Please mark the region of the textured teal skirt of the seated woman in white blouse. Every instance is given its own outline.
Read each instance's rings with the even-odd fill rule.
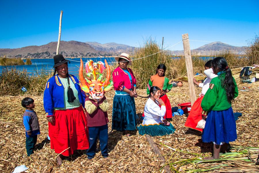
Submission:
[[[164,136],[169,135],[175,132],[174,126],[170,123],[170,125],[166,126],[163,123],[159,124],[150,124],[150,125],[140,125],[138,127],[138,133],[140,135],[150,135],[150,136]]]

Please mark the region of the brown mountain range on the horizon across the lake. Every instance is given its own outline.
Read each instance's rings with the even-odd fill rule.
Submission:
[[[221,42],[213,42],[191,50],[192,54],[197,55],[215,55],[221,51],[230,50],[243,54],[246,46],[231,46]],[[19,58],[52,58],[56,54],[57,42],[50,42],[42,46],[26,46],[16,49],[0,49],[0,56],[19,57]],[[122,52],[134,53],[137,49],[132,46],[117,43],[100,44],[98,42],[77,42],[77,41],[60,41],[59,53],[64,57],[114,57]],[[170,54],[181,55],[183,50],[168,51]]]

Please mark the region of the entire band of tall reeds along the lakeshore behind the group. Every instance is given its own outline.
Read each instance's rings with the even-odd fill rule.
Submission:
[[[166,65],[167,69],[165,75],[171,81],[175,79],[186,80],[187,72],[184,56],[171,58],[171,55],[166,54],[166,51],[157,53],[160,50],[160,46],[152,38],[146,41],[144,45],[140,46],[139,49],[135,50],[134,59],[137,60],[133,61],[130,68],[136,76],[138,89],[146,89],[146,84],[148,83],[150,76],[155,74],[157,65],[161,63]],[[257,50],[258,52],[256,52]],[[231,69],[259,64],[259,38],[257,35],[254,40],[251,40],[247,52],[247,57],[240,57],[238,54],[233,54],[231,51],[226,50],[215,56],[206,56],[208,59],[203,59],[200,55],[193,54],[193,71],[194,73],[203,73],[205,62],[218,56],[224,57]],[[145,58],[138,59],[141,57]],[[30,59],[27,59],[26,63],[24,63],[22,59],[9,59],[3,57],[0,58],[0,64],[4,65],[11,63],[9,62],[11,60],[13,60],[12,65],[31,63]],[[110,67],[111,71],[113,71],[117,67],[117,63],[114,63]],[[105,73],[106,72],[104,72],[104,76]],[[33,76],[26,70],[19,71],[15,67],[3,69],[0,74],[0,95],[20,95],[22,94],[21,88],[23,86],[28,90],[28,94],[41,95],[45,89],[47,80],[52,75],[53,72],[46,72],[44,69],[37,71],[36,75]]]

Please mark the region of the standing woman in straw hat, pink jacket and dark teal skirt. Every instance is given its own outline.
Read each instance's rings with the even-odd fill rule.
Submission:
[[[127,65],[132,62],[129,55],[122,53],[115,57],[119,63],[113,71],[113,85],[115,96],[113,98],[113,121],[112,129],[123,131],[124,135],[130,136],[129,131],[136,129],[136,106],[134,97],[136,93],[136,78]]]

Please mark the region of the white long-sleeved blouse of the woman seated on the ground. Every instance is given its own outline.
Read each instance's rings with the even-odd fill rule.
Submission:
[[[145,116],[142,125],[163,123],[162,120],[164,120],[165,111],[166,108],[164,105],[160,108],[151,98],[148,98],[144,108]]]

